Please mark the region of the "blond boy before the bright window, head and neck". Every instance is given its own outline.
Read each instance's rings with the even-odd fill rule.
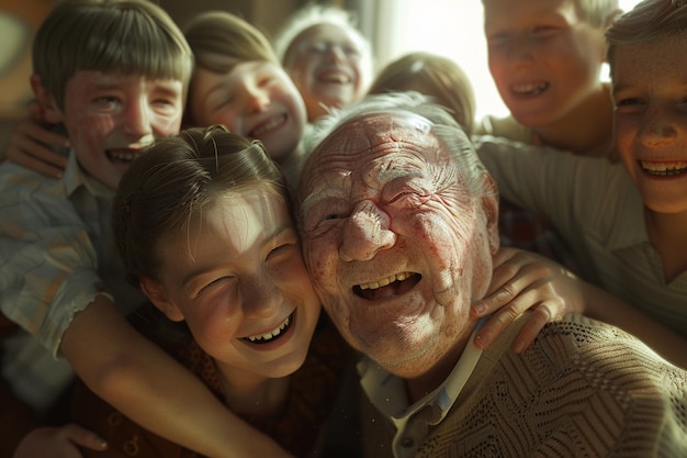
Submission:
[[[604,32],[617,0],[483,0],[488,66],[510,116],[484,133],[576,154],[613,152]]]

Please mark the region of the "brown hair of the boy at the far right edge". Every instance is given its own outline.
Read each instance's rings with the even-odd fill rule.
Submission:
[[[649,43],[682,34],[687,40],[687,1],[644,0],[622,14],[606,31],[607,62],[613,70],[613,57],[618,46]],[[675,56],[684,58],[684,56]]]

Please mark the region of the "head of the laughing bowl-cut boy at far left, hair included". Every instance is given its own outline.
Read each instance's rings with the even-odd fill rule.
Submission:
[[[32,86],[81,167],[110,188],[143,146],[179,132],[191,51],[147,0],[65,0],[38,29]]]

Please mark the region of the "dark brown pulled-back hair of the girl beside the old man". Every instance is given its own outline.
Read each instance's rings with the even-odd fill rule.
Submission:
[[[289,203],[283,175],[258,141],[223,126],[159,139],[124,174],[114,199],[116,245],[132,282],[157,279],[160,243],[226,192],[257,186]]]

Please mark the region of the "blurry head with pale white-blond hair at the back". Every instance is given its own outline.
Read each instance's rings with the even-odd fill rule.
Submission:
[[[372,52],[350,12],[311,3],[284,24],[277,55],[307,108],[308,120],[360,99],[372,75]]]

